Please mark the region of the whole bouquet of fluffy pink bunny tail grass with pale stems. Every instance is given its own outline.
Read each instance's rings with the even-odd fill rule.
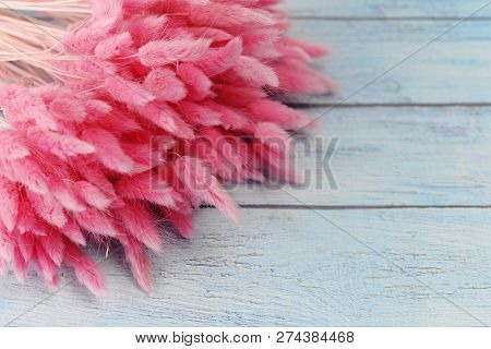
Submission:
[[[333,83],[276,2],[2,1],[0,272],[56,288],[65,265],[101,294],[84,248],[119,243],[149,291],[156,218],[190,238],[202,204],[237,219],[224,182],[295,181],[287,131],[309,120],[271,97]]]

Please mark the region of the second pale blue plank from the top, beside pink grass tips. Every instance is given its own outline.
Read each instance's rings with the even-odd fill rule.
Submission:
[[[340,91],[334,96],[289,100],[345,105],[490,104],[490,22],[455,23],[295,21],[292,36],[334,50],[333,56],[315,61],[314,67],[337,81]]]

